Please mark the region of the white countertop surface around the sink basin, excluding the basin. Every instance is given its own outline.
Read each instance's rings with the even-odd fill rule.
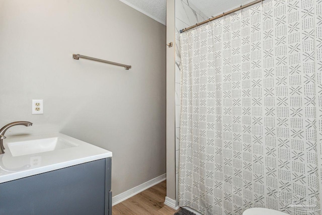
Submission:
[[[8,145],[19,141],[58,137],[74,147],[54,151],[13,156]],[[0,183],[37,175],[65,167],[112,157],[112,152],[62,133],[10,136],[4,139],[5,154],[0,155]]]

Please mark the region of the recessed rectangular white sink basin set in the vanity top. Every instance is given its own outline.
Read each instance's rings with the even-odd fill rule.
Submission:
[[[13,157],[67,149],[77,146],[77,144],[74,144],[62,137],[17,141],[10,142],[8,144],[8,148]]]

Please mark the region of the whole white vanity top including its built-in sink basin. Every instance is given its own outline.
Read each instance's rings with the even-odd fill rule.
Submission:
[[[0,183],[112,157],[110,151],[62,133],[8,136],[4,146]]]

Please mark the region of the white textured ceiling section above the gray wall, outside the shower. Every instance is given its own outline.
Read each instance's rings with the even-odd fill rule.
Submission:
[[[166,0],[120,0],[146,16],[166,25]]]

